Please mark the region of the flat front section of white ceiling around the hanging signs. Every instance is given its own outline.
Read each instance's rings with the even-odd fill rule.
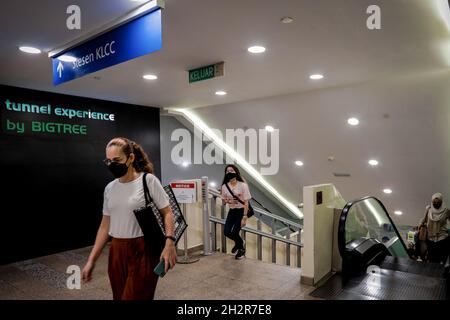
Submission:
[[[444,0],[442,0],[444,1]],[[0,82],[158,107],[198,107],[348,85],[448,66],[448,29],[440,0],[167,0],[163,49],[54,87],[50,59],[17,47],[50,51],[122,16],[130,0],[15,0],[2,3]],[[366,8],[381,7],[382,29],[366,28]],[[67,30],[66,8],[78,4],[82,30]],[[292,24],[280,23],[292,16]],[[8,32],[9,31],[9,32]],[[246,49],[262,44],[252,56]],[[225,61],[225,76],[188,84],[186,70]],[[323,72],[326,81],[308,74]],[[156,73],[159,80],[142,79]],[[101,77],[95,80],[94,76]],[[214,92],[224,89],[226,97]]]

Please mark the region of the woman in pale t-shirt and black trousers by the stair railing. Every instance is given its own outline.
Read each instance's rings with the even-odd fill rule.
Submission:
[[[235,197],[239,198],[243,203],[239,202],[227,188],[231,189]],[[228,211],[227,220],[225,222],[224,233],[225,236],[234,240],[234,247],[231,253],[236,253],[236,259],[245,257],[245,245],[239,232],[247,223],[248,201],[252,198],[248,185],[242,178],[239,169],[235,165],[228,165],[225,167],[225,177],[223,178],[222,200],[228,204],[230,210]]]

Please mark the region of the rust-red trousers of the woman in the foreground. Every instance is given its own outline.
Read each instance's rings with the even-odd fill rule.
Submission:
[[[158,275],[153,269],[159,255],[152,254],[144,237],[113,238],[109,249],[108,275],[114,300],[152,300]]]

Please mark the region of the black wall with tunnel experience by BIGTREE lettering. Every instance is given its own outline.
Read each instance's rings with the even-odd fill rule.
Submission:
[[[5,101],[114,113],[115,121],[8,111]],[[106,143],[140,143],[160,177],[159,109],[0,85],[0,264],[92,245],[113,179]],[[54,111],[54,110],[53,110]],[[24,133],[7,126],[22,122]],[[31,132],[31,122],[86,125],[86,135]]]

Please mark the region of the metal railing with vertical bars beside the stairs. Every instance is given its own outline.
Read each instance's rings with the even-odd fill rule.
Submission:
[[[222,203],[220,206],[220,216],[217,216],[217,198],[220,198],[220,193],[216,190],[209,189],[208,194],[211,195],[211,205],[210,210],[208,212],[209,221],[212,223],[213,227],[211,229],[211,241],[212,241],[212,251],[217,251],[217,226],[220,225],[221,232],[221,251],[227,252],[227,241],[224,236],[224,228],[225,228],[225,205]],[[249,232],[251,234],[256,235],[256,245],[257,245],[257,259],[262,260],[262,252],[263,252],[263,238],[267,238],[272,240],[271,253],[272,253],[272,262],[276,263],[277,260],[277,241],[282,242],[286,245],[285,257],[286,257],[286,265],[291,265],[291,246],[294,246],[297,250],[297,267],[301,266],[301,248],[303,247],[301,243],[301,230],[302,226],[294,221],[289,219],[279,217],[274,215],[266,210],[263,210],[258,207],[253,207],[255,211],[255,217],[257,220],[257,228],[244,227],[242,228],[242,238],[245,240],[246,233]],[[262,217],[265,217],[266,220],[270,220],[271,223],[268,225],[271,228],[272,233],[268,233],[262,230]],[[290,237],[292,234],[287,233],[285,237],[276,234],[276,223],[280,222],[283,224],[286,230],[295,230],[296,240],[291,240]],[[210,246],[208,245],[208,248]]]

